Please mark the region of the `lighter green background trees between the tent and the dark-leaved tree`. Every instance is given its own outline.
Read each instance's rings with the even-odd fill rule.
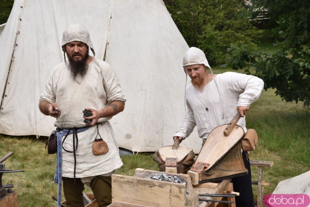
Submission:
[[[223,64],[231,45],[255,47],[257,30],[240,0],[164,0],[189,47],[201,48],[210,64]]]

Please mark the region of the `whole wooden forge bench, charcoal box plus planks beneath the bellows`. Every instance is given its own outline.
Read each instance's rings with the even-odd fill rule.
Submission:
[[[186,185],[150,179],[152,175],[165,172],[137,169],[134,176],[112,175],[112,204],[109,207],[216,207],[218,203],[198,202],[199,193],[231,193],[230,180],[193,186],[190,176],[176,175]],[[167,173],[166,173],[167,174]],[[217,197],[203,199],[220,200]],[[234,201],[234,198],[230,198]],[[228,207],[235,207],[234,204]]]

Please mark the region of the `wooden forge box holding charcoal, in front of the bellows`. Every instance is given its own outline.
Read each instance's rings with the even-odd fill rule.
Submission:
[[[155,174],[176,175],[186,185],[150,179]],[[128,207],[196,207],[198,192],[193,189],[189,175],[137,169],[134,176],[112,175],[111,205],[117,202],[127,203]]]

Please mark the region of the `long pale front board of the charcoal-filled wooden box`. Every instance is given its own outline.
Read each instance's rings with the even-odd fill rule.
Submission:
[[[190,179],[189,176],[188,179]],[[185,184],[112,175],[112,202],[156,207],[195,207],[198,203],[198,193],[197,201],[190,201],[186,200]]]

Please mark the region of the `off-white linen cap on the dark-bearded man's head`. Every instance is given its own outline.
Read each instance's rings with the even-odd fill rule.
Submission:
[[[95,55],[90,34],[87,31],[86,27],[84,27],[83,25],[71,24],[71,25],[68,25],[67,28],[63,31],[62,33],[63,52],[66,51],[64,46],[67,43],[70,43],[73,41],[79,41],[79,42],[85,43],[87,46],[91,48],[93,55]]]

